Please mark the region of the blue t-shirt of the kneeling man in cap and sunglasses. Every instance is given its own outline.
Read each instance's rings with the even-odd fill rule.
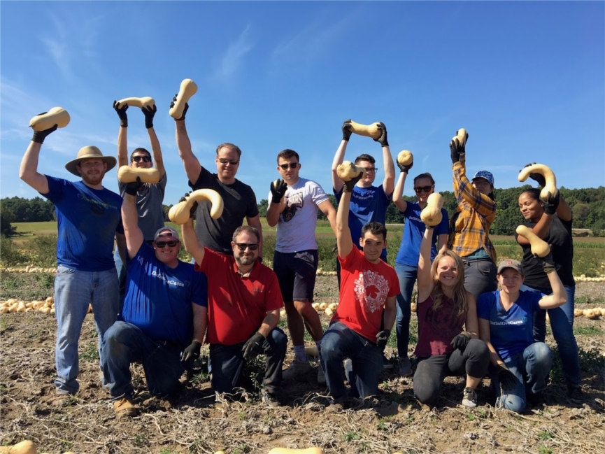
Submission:
[[[170,268],[143,243],[126,265],[126,296],[121,320],[140,328],[152,339],[188,346],[193,332],[191,304],[208,307],[206,274],[179,260]]]

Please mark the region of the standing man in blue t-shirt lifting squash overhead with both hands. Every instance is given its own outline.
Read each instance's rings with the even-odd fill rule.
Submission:
[[[340,201],[343,195],[343,180],[341,180],[336,173],[336,168],[343,163],[345,152],[349,139],[351,136],[350,123],[351,120],[345,120],[342,126],[343,140],[336,150],[334,155],[334,161],[332,161],[332,186],[334,188],[334,195],[336,200]],[[391,156],[391,150],[387,141],[387,127],[383,123],[380,123],[380,130],[382,135],[374,141],[380,143],[380,147],[383,150],[383,160],[385,166],[385,179],[383,184],[376,187],[373,185],[376,180],[376,159],[370,155],[359,155],[355,158],[355,165],[363,167],[365,169],[365,176],[357,182],[357,185],[353,188],[353,194],[351,194],[351,204],[349,211],[349,229],[351,231],[351,239],[353,244],[357,246],[357,249],[362,250],[360,239],[362,238],[362,227],[368,222],[380,222],[385,224],[387,215],[387,207],[390,204],[391,197],[395,185],[395,166],[393,164],[393,157]],[[383,249],[380,259],[387,261],[387,250]],[[341,285],[341,267],[338,260],[336,260],[336,273],[339,280],[339,287]]]

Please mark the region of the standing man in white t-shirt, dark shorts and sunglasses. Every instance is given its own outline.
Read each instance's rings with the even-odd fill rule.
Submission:
[[[277,156],[278,172],[282,180],[271,183],[269,209],[266,220],[269,227],[277,225],[273,271],[284,299],[287,326],[294,345],[294,362],[283,372],[290,380],[311,369],[304,353],[304,329],[321,349],[322,325],[317,311],[311,306],[315,275],[318,269],[318,244],[315,241],[318,209],[328,218],[332,230],[336,227],[336,210],[327,194],[315,181],[299,177],[299,155],[294,150],[283,150]],[[285,204],[280,201],[285,198]],[[321,367],[318,381],[325,383]]]

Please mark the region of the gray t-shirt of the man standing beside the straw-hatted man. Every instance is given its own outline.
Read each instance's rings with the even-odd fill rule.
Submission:
[[[118,180],[118,191],[124,197],[126,183]],[[153,241],[157,229],[164,227],[164,191],[166,190],[166,172],[157,183],[143,183],[136,192],[136,212],[138,213],[138,228],[143,232],[145,241]]]

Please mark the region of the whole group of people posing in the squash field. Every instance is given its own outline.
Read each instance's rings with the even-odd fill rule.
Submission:
[[[20,178],[55,204],[57,211],[57,276],[55,348],[57,399],[78,391],[78,338],[92,305],[99,333],[103,383],[118,416],[134,416],[130,365],[141,362],[148,389],[171,395],[183,373],[208,343],[211,386],[230,394],[240,383],[245,362],[266,355],[262,400],[278,404],[283,380],[306,376],[313,367],[304,346],[305,329],[320,354],[318,383],[327,385],[335,404],[378,392],[384,348],[395,327],[397,371],[411,376],[408,357],[413,287],[418,285],[418,364],[414,394],[433,406],[443,379],[466,375],[464,406],[476,406],[475,390],[484,376],[499,406],[523,411],[546,388],[553,361],[544,343],[545,310],[564,362],[569,395],[581,398],[578,347],[572,331],[574,278],[571,274],[571,210],[560,194],[541,199],[539,190],[519,197],[526,225],[552,246],[546,257],[532,255],[518,237],[522,263],[496,265],[489,239],[494,221],[494,178],[479,171],[469,180],[464,140],[453,139],[450,155],[458,206],[451,220],[427,226],[420,219],[435,190],[430,173],[413,179],[417,202],[403,198],[412,164],[395,166],[387,129],[379,124],[385,167],[383,183],[374,185],[376,159],[355,159],[364,172],[344,181],[337,168],[351,138],[350,120],[332,163],[332,184],[338,210],[318,183],[299,176],[299,154],[277,155],[281,178],[270,185],[266,221],[277,227],[273,269],[262,262],[262,225],[255,193],[236,178],[241,150],[218,146],[216,173],[192,152],[183,115],[176,119],[176,143],[192,190],[220,194],[224,210],[210,215],[211,204],[194,204],[181,232],[164,225],[162,201],[166,171],[153,129],[155,106],[143,107],[152,152],[136,148],[128,159],[128,106],[114,103],[120,119],[118,159],[86,146],[66,164],[81,178],[72,182],[38,172],[38,154],[45,138],[57,129],[34,132],[22,159]],[[159,172],[158,183],[119,183],[120,194],[103,186],[106,172],[120,166]],[[540,185],[541,175],[532,174]],[[405,219],[395,267],[386,261],[385,215],[390,201]],[[327,216],[338,249],[339,306],[329,327],[322,329],[313,306],[318,245],[318,211]],[[194,225],[193,219],[196,222]],[[243,221],[246,221],[245,225]],[[115,243],[114,243],[115,239]],[[182,241],[182,243],[181,243]],[[115,244],[115,252],[114,252]],[[183,244],[193,263],[178,259]],[[500,290],[497,290],[499,288]],[[287,336],[278,327],[285,307],[294,360],[283,369]],[[343,379],[343,363],[348,363]]]

